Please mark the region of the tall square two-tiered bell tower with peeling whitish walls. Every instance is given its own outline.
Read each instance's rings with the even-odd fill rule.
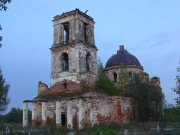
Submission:
[[[52,91],[80,90],[81,81],[91,85],[97,76],[94,20],[75,9],[54,17],[51,47]]]

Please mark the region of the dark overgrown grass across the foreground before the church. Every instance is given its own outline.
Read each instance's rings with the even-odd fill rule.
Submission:
[[[74,132],[75,135],[122,135],[125,129],[128,129],[130,133],[133,133],[134,131],[140,132],[140,133],[149,132],[151,128],[156,128],[157,124],[158,122],[131,123],[131,124],[110,123],[106,125],[95,125],[93,127],[85,127],[81,130],[78,130],[78,128],[76,127],[75,129],[71,130],[66,127],[56,128],[56,124],[53,123],[51,125],[48,125],[48,127],[37,128],[37,130],[35,130],[36,132],[32,132],[32,134],[33,135],[37,135],[37,134],[68,135],[67,133]],[[49,127],[50,127],[50,133],[47,132],[49,131]],[[179,124],[177,125],[177,123],[171,123],[171,125],[169,125],[169,123],[168,125],[165,125],[164,123],[159,123],[159,127],[160,128],[171,127],[171,128],[177,128],[177,130],[176,131],[174,130],[173,132],[168,132],[168,133],[162,130],[160,133],[157,133],[155,129],[155,131],[152,132],[153,133],[152,135],[178,135],[179,130],[180,130]],[[46,128],[47,128],[47,131],[46,131]],[[17,127],[10,128],[10,130],[11,129],[17,129]],[[19,129],[22,129],[22,131],[24,130],[22,127]]]

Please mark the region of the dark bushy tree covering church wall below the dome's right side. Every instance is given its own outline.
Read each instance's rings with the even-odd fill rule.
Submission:
[[[134,74],[128,84],[125,96],[135,99],[138,106],[139,121],[159,120],[162,118],[163,94],[160,87],[143,82],[139,74]]]

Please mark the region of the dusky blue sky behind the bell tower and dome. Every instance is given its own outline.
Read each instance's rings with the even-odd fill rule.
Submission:
[[[174,103],[171,88],[180,61],[179,0],[13,0],[7,12],[0,12],[0,66],[11,85],[8,111],[36,97],[39,81],[50,85],[52,20],[75,8],[88,10],[94,18],[95,43],[104,65],[123,44],[150,77],[160,77],[166,100]]]

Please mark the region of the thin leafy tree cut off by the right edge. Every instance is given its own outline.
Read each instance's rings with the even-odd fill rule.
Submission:
[[[178,72],[178,75],[176,76],[176,87],[173,88],[173,90],[178,95],[178,97],[175,100],[176,100],[177,106],[180,107],[180,66],[177,68],[177,72]]]

